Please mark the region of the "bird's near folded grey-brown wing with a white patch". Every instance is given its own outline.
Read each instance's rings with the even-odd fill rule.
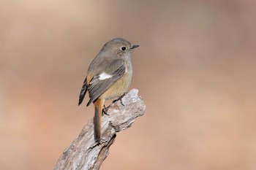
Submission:
[[[125,73],[124,60],[122,59],[105,63],[104,68],[105,69],[101,69],[101,72],[95,74],[89,83],[87,82],[87,90],[90,96],[90,101],[87,106],[108,90],[108,88]]]

